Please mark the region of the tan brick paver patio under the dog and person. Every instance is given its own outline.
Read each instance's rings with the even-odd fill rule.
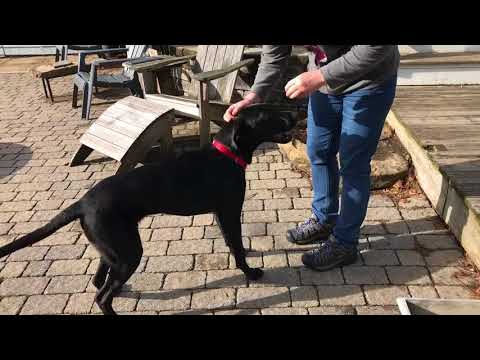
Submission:
[[[71,78],[53,80],[55,104],[30,74],[0,74],[0,245],[44,224],[117,164],[94,153],[70,168],[89,126],[71,108]],[[92,117],[116,98],[94,97]],[[100,98],[101,97],[101,98]],[[103,104],[102,104],[103,103]],[[179,125],[177,134],[192,131]],[[399,296],[468,298],[458,278],[463,251],[422,197],[399,206],[374,195],[362,229],[361,257],[317,273],[285,230],[309,216],[311,186],[274,146],[257,151],[247,171],[242,215],[248,262],[265,277],[247,282],[235,269],[211,215],[158,215],[140,223],[144,259],[114,301],[136,314],[396,314]],[[0,259],[1,314],[98,314],[92,275],[97,252],[78,222]]]

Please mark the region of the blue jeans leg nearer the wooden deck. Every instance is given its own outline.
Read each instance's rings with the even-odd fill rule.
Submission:
[[[343,188],[335,237],[358,244],[370,198],[370,161],[395,97],[396,76],[374,89],[344,95],[340,135],[340,175]]]

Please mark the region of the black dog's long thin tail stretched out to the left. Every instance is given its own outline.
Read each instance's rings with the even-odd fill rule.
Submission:
[[[47,236],[52,235],[61,227],[64,227],[73,220],[78,219],[81,215],[82,211],[80,202],[70,205],[60,214],[50,220],[48,224],[38,228],[30,234],[24,235],[21,238],[12,241],[10,244],[0,247],[0,258],[45,239]]]

